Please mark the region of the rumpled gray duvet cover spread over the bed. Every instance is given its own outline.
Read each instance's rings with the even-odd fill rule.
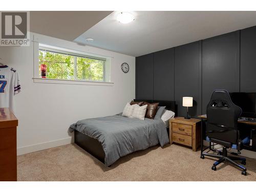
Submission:
[[[169,142],[161,119],[140,120],[118,114],[79,120],[70,129],[93,137],[102,144],[106,166],[127,154]]]

